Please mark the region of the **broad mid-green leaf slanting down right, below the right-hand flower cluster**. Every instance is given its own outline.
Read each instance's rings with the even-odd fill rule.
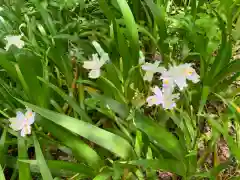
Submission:
[[[183,149],[177,138],[164,127],[156,124],[153,120],[139,112],[136,113],[135,123],[137,128],[145,132],[152,142],[171,153],[177,159],[184,159],[186,151]]]

